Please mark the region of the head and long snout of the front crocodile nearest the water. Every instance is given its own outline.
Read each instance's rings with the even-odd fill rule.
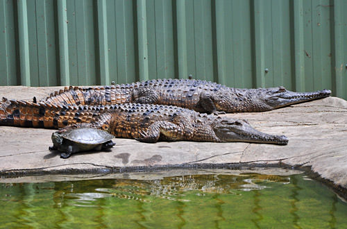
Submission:
[[[214,126],[214,133],[221,142],[255,142],[263,144],[288,144],[284,135],[269,135],[251,127],[246,121],[224,119]]]

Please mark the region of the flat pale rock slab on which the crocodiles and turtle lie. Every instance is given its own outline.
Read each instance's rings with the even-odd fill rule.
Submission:
[[[44,98],[62,87],[0,87],[8,99]],[[51,152],[56,130],[0,127],[0,173],[135,171],[151,167],[214,167],[223,164],[311,167],[322,178],[347,188],[347,101],[329,97],[270,112],[226,114],[247,119],[264,133],[286,135],[287,146],[242,142],[158,142],[115,139],[108,152],[78,153],[60,159]]]

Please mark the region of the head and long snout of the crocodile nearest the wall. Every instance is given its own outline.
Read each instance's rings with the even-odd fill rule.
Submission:
[[[321,90],[316,92],[291,92],[286,90],[285,87],[275,87],[266,89],[263,103],[272,109],[276,109],[295,103],[322,99],[330,96],[330,94],[330,90]]]

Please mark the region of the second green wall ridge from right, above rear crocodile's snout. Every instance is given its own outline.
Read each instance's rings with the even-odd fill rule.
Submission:
[[[294,90],[305,90],[305,60],[304,60],[304,34],[303,34],[303,0],[291,1],[291,34],[292,53],[291,61],[294,74]]]

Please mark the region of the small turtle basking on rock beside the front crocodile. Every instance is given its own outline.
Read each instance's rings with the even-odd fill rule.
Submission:
[[[60,158],[69,158],[72,153],[81,151],[101,151],[115,146],[112,142],[115,136],[97,128],[75,128],[60,133],[52,133],[53,146],[49,146],[50,151],[58,150],[62,152]]]

